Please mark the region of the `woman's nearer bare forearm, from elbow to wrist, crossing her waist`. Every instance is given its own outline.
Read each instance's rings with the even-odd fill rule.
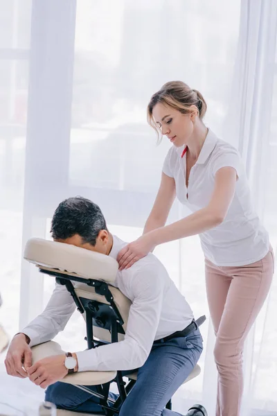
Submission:
[[[154,245],[159,245],[168,241],[201,234],[208,229],[220,225],[222,221],[223,218],[219,218],[213,214],[210,209],[203,208],[186,218],[167,225],[166,227],[162,226],[157,229],[152,229],[148,234],[149,236],[151,234]]]

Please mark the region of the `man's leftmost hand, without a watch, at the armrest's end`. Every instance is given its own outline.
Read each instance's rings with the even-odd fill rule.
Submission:
[[[12,338],[5,365],[6,372],[10,376],[19,377],[20,379],[28,377],[27,372],[32,365],[32,352],[26,342],[24,333],[18,333]]]

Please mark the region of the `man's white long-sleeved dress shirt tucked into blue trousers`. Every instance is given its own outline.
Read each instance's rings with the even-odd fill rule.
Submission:
[[[113,239],[109,256],[116,259],[127,243],[116,236]],[[131,268],[118,271],[114,286],[132,301],[125,339],[77,352],[79,371],[141,367],[150,354],[154,340],[181,331],[193,320],[193,312],[185,297],[152,253]],[[30,338],[30,346],[54,338],[64,329],[75,307],[65,286],[57,284],[44,312],[21,331]]]

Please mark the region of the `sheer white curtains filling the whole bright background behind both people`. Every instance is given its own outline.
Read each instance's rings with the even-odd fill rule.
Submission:
[[[156,146],[145,109],[168,80],[199,89],[208,103],[206,124],[240,148],[276,246],[275,6],[274,0],[0,0],[0,88],[8,98],[0,101],[0,322],[10,336],[51,295],[53,281],[21,263],[21,248],[30,236],[49,238],[63,198],[79,194],[97,202],[111,232],[126,241],[141,234],[169,148],[166,139]],[[169,221],[187,214],[176,203]],[[208,316],[198,237],[155,253],[195,315]],[[274,296],[247,346],[245,409],[261,415],[277,406],[277,371],[268,365]],[[201,402],[213,415],[209,320],[202,333],[202,374],[179,389],[174,406],[186,413]],[[78,349],[85,347],[83,334],[75,314],[57,339]],[[267,375],[271,390],[264,387]]]

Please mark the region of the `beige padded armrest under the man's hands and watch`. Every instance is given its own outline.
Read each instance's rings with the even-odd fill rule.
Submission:
[[[61,346],[54,341],[36,345],[32,348],[33,364],[42,360],[42,358],[60,354],[65,354],[65,352],[62,350]],[[73,385],[99,385],[114,380],[116,374],[116,371],[84,371],[68,374],[61,381],[62,383]]]

